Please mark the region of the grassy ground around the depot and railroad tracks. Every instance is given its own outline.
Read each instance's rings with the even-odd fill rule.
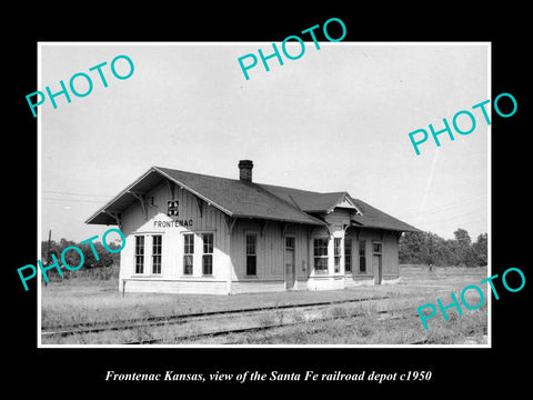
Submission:
[[[477,310],[463,308],[463,316],[449,310],[450,321],[441,313],[428,320],[424,330],[416,308],[435,303],[440,298],[450,304],[451,292],[457,298],[467,284],[477,284],[485,293],[486,268],[402,266],[400,282],[369,286],[339,291],[298,291],[279,293],[253,293],[237,296],[125,293],[118,291],[117,279],[71,279],[51,282],[41,290],[42,330],[68,328],[77,323],[101,324],[151,317],[171,317],[220,310],[239,310],[251,307],[276,307],[308,302],[352,300],[388,297],[371,302],[332,304],[322,311],[328,320],[310,320],[305,323],[249,333],[232,333],[223,337],[188,339],[188,332],[198,332],[199,326],[163,326],[124,332],[105,332],[64,338],[42,339],[42,343],[105,343],[117,344],[142,338],[162,337],[168,344],[405,344],[414,342],[435,344],[483,344],[487,326],[486,300]],[[471,304],[479,302],[475,291],[466,292]],[[261,313],[255,323],[269,326],[292,320],[305,320],[300,311],[292,314],[278,310]],[[352,317],[354,313],[358,317]],[[235,320],[235,323],[250,323]],[[220,322],[213,320],[212,324]],[[205,322],[203,323],[205,324]],[[203,328],[202,328],[203,329]],[[177,339],[178,338],[178,339]]]

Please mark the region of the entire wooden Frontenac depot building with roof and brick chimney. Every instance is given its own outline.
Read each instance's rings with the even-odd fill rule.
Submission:
[[[124,233],[119,289],[242,293],[344,289],[399,278],[402,232],[418,231],[348,192],[150,168],[86,222]]]

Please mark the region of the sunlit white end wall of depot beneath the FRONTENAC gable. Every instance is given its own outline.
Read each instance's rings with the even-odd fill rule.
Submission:
[[[152,198],[153,197],[153,206]],[[211,292],[209,286],[199,284],[198,282],[215,283],[214,292],[220,291],[220,287],[228,282],[228,271],[231,260],[228,256],[230,248],[230,234],[224,219],[224,214],[214,207],[208,206],[205,202],[197,201],[197,198],[187,190],[179,189],[174,186],[174,200],[179,201],[179,216],[167,216],[167,202],[172,200],[171,191],[165,182],[155,187],[152,191],[147,193],[148,218],[140,201],[135,201],[122,216],[122,232],[125,236],[125,247],[121,251],[120,260],[120,279],[127,279],[128,283],[125,290],[134,291],[165,291],[170,288],[168,283],[162,283],[165,280],[179,280],[185,282],[197,282],[194,287],[197,292]],[[200,207],[202,210],[200,211]],[[159,221],[172,220],[192,220],[192,224],[160,227]],[[155,222],[155,223],[154,223]],[[211,232],[214,234],[213,242],[213,273],[209,277],[202,276],[202,241],[201,233]],[[194,236],[194,263],[193,274],[183,274],[183,233],[195,233]],[[152,236],[162,236],[162,261],[161,274],[151,273],[151,252],[152,252]],[[134,273],[134,248],[135,236],[144,236],[144,271],[142,274]],[[132,283],[131,280],[139,280]],[[142,283],[141,283],[142,281]],[[223,282],[223,284],[222,284]],[[122,286],[122,282],[119,282]],[[202,289],[202,287],[204,287]],[[181,289],[180,289],[181,288]],[[213,286],[214,288],[214,286]],[[142,290],[141,290],[142,289]],[[182,287],[174,286],[174,289],[184,290]],[[122,288],[120,288],[122,290]],[[170,289],[169,289],[170,290]]]

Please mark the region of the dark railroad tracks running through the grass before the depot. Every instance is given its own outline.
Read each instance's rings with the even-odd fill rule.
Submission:
[[[103,323],[81,322],[81,323],[74,323],[74,324],[62,326],[62,327],[42,328],[41,337],[42,338],[67,337],[67,336],[86,334],[86,333],[100,333],[100,332],[107,332],[107,331],[150,328],[150,327],[168,326],[168,324],[191,323],[197,321],[208,321],[211,319],[225,318],[225,317],[232,317],[232,316],[247,317],[248,314],[254,314],[254,313],[257,314],[262,312],[264,313],[269,311],[282,311],[282,310],[312,311],[312,310],[320,310],[323,308],[328,308],[331,306],[379,301],[379,300],[386,300],[386,299],[390,299],[390,297],[383,296],[383,297],[322,301],[322,302],[301,303],[301,304],[281,304],[281,306],[257,307],[257,308],[245,308],[245,309],[234,309],[234,310],[195,312],[195,313],[164,316],[164,317],[148,317],[148,318],[122,320],[122,321],[110,321],[110,322],[103,322]],[[298,322],[305,322],[305,321],[298,321]],[[279,326],[281,327],[281,326],[288,326],[288,324],[289,323],[280,323]],[[275,327],[274,326],[270,327],[265,324],[264,327],[250,327],[250,328],[241,328],[241,329],[227,330],[227,331],[220,331],[220,332],[214,331],[205,334],[197,333],[197,336],[199,337],[202,334],[214,336],[214,334],[224,334],[224,333],[229,334],[231,332],[239,333],[239,331],[245,332],[247,330],[253,331],[254,329],[260,330],[260,329],[270,329],[270,328],[275,328]]]

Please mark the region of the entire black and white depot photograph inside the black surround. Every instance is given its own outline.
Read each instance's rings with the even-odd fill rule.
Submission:
[[[302,40],[39,43],[39,347],[491,346],[491,43]]]

